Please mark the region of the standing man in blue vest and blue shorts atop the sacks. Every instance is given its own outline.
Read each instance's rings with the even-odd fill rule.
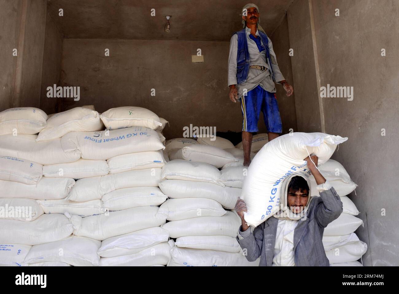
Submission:
[[[287,96],[292,95],[294,89],[280,72],[272,42],[260,25],[258,6],[249,3],[242,12],[244,28],[230,40],[228,85],[231,101],[241,99],[244,166],[249,166],[252,133],[258,131],[260,111],[269,141],[282,133],[274,82],[284,87]]]

